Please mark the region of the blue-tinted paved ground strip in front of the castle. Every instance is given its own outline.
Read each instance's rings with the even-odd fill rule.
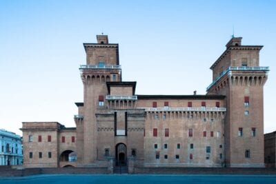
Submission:
[[[109,183],[109,184],[182,184],[182,183],[276,183],[276,175],[36,175],[0,178],[0,183]]]

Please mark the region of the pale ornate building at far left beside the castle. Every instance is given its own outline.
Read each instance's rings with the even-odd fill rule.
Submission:
[[[23,152],[21,136],[0,130],[0,165],[21,165]]]

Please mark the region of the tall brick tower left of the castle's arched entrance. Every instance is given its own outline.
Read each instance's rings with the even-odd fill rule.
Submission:
[[[107,81],[121,81],[119,65],[119,45],[108,43],[107,35],[97,35],[97,43],[83,43],[86,50],[86,65],[81,65],[83,81],[83,104],[75,116],[77,125],[78,163],[92,164],[97,160],[98,110],[105,109],[108,89]]]

